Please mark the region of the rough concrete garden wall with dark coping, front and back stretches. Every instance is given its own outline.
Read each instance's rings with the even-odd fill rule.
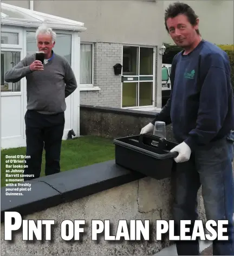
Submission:
[[[114,108],[81,106],[81,135],[124,137],[137,135],[155,113]],[[167,139],[173,141],[172,127]],[[77,140],[79,142],[79,139]],[[94,152],[95,153],[95,152]],[[167,236],[156,240],[155,221],[172,219],[174,175],[155,180],[115,164],[115,160],[68,170],[33,182],[30,193],[22,197],[4,196],[1,189],[1,221],[4,212],[17,211],[28,220],[55,220],[53,242],[22,241],[22,232],[15,242],[4,241],[1,223],[2,255],[153,255],[168,247]],[[198,194],[199,219],[205,221],[201,193]],[[81,241],[63,241],[63,220],[86,220],[86,234]],[[110,220],[111,234],[119,220],[150,220],[150,241],[104,241],[91,239],[91,221]],[[112,233],[113,232],[113,233]]]

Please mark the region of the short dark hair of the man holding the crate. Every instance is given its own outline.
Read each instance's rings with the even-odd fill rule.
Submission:
[[[165,11],[165,27],[167,32],[169,32],[168,28],[167,28],[167,24],[166,21],[168,18],[174,18],[180,14],[184,14],[185,16],[187,16],[188,21],[191,23],[191,25],[196,25],[197,24],[197,18],[198,16],[195,14],[194,10],[187,4],[185,3],[173,3],[170,4],[168,6],[168,8]],[[197,29],[197,34],[200,35],[199,30]]]

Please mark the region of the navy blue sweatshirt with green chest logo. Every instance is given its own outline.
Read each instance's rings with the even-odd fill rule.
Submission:
[[[174,138],[191,150],[227,136],[234,127],[231,69],[227,54],[202,40],[188,55],[174,56],[172,91],[157,120],[172,123]]]

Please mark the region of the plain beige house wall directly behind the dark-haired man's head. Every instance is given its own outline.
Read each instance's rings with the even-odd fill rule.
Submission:
[[[164,10],[170,3],[163,1]],[[181,1],[190,5],[199,16],[199,30],[203,39],[216,44],[234,43],[234,1],[229,0],[196,0]],[[164,29],[164,42],[174,43]]]

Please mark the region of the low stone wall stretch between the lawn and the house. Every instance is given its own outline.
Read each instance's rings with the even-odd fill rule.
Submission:
[[[80,106],[80,135],[125,137],[139,135],[155,112],[122,110],[121,108]],[[166,127],[167,139],[174,142],[172,126]]]

